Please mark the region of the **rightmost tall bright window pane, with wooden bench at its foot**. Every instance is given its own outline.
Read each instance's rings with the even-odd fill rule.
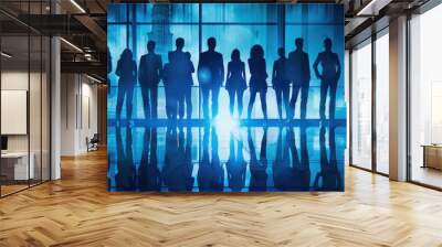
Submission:
[[[442,23],[442,4],[410,21],[411,82],[410,82],[410,151],[411,180],[442,187],[442,36],[438,32]],[[424,146],[430,150],[425,155]],[[438,169],[434,169],[438,168]]]

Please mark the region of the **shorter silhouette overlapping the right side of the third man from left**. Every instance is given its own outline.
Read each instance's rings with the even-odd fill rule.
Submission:
[[[179,90],[179,98],[178,98],[178,107],[179,107],[179,118],[182,119],[185,117],[185,103],[186,103],[186,117],[187,119],[192,118],[192,86],[193,86],[193,78],[192,73],[194,73],[194,66],[192,61],[190,60],[191,55],[190,52],[186,52],[186,60],[182,62],[182,66],[187,66],[185,71],[185,84],[182,88],[180,87]]]

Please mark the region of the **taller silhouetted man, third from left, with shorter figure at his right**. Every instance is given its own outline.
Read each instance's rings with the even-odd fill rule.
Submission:
[[[176,50],[169,52],[169,63],[170,63],[170,110],[172,119],[176,119],[180,111],[182,115],[179,117],[182,119],[183,109],[179,109],[183,107],[183,103],[181,103],[181,98],[183,97],[182,92],[186,88],[186,78],[189,69],[189,60],[186,52],[182,51],[185,47],[185,39],[178,37],[175,42]]]

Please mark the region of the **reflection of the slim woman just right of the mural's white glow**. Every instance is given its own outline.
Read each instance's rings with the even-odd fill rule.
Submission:
[[[229,187],[233,192],[240,192],[245,186],[246,162],[244,161],[244,155],[242,152],[243,150],[242,140],[238,141],[236,153],[234,144],[235,141],[233,138],[233,133],[230,133],[229,160],[225,163],[225,168],[228,171]]]

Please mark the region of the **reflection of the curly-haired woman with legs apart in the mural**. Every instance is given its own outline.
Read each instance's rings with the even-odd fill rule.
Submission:
[[[256,150],[253,144],[252,133],[248,129],[248,141],[250,150],[250,185],[249,191],[266,191],[267,190],[267,128],[263,128],[263,137],[261,140],[260,160],[256,157]]]

